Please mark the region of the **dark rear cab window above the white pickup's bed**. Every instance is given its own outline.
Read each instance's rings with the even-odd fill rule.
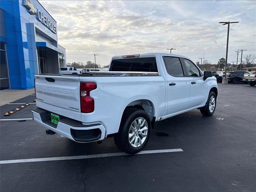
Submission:
[[[112,60],[110,71],[158,72],[155,57]]]

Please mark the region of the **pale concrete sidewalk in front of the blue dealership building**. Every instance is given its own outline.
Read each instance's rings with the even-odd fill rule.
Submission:
[[[6,90],[0,92],[0,106],[16,101],[20,98],[34,94],[34,89],[28,90]]]

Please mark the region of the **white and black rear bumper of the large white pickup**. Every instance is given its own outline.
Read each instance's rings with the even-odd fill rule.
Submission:
[[[84,125],[76,120],[61,118],[56,125],[48,119],[47,110],[34,108],[32,113],[35,122],[76,142],[94,142],[105,138],[106,129],[102,124]]]

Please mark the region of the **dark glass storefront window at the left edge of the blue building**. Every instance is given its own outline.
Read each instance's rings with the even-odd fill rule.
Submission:
[[[0,90],[10,89],[6,45],[0,42]]]

